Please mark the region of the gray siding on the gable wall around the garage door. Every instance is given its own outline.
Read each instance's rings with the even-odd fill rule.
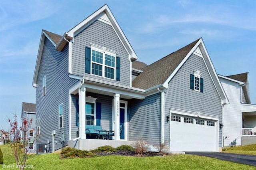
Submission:
[[[194,74],[194,70],[199,70],[202,73],[201,78],[204,79],[203,93],[190,89],[190,74]],[[174,75],[168,87],[165,94],[166,115],[170,114],[169,108],[182,109],[217,116],[222,123],[221,99],[202,57],[192,54]],[[169,138],[169,136],[170,122],[165,121],[165,138]],[[219,129],[219,147],[221,146],[222,130]]]

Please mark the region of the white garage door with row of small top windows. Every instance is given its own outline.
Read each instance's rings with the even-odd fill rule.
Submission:
[[[216,121],[172,115],[170,121],[172,151],[218,151]]]

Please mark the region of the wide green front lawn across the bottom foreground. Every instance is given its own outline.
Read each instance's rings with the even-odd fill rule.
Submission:
[[[5,165],[15,165],[15,160],[8,155],[6,145],[0,146],[4,155]],[[204,156],[174,154],[170,156],[136,157],[136,156],[98,156],[94,158],[67,158],[60,159],[58,153],[33,154],[27,165],[33,165],[35,170],[113,170],[113,169],[138,169],[138,170],[164,170],[164,169],[221,169],[221,170],[252,170],[254,166],[208,158]],[[17,168],[2,168],[12,170]]]

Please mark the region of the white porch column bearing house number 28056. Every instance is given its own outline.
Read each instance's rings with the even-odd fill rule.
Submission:
[[[115,140],[120,140],[120,94],[114,95],[114,117],[115,117],[115,133],[114,137]]]

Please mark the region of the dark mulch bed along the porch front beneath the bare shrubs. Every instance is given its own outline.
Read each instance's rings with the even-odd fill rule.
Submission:
[[[117,151],[114,151],[114,152],[98,152],[96,154],[99,155],[99,156],[107,156],[107,155],[119,155],[119,156],[165,156],[165,155],[168,155],[168,154],[165,154],[165,153],[149,152],[149,151],[146,151],[146,152],[144,152],[144,154],[139,155],[139,154],[137,154],[134,151],[127,151],[127,150],[126,151],[117,150]]]

